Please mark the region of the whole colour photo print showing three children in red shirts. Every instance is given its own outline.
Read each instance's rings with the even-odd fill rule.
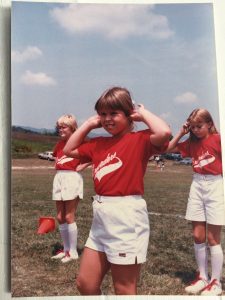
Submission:
[[[224,197],[208,192],[210,221],[189,204],[202,179],[223,184],[212,3],[12,2],[11,96],[12,297],[225,295]],[[106,144],[116,150],[100,157]],[[107,201],[100,245],[92,222]],[[133,260],[115,254],[126,230]]]

